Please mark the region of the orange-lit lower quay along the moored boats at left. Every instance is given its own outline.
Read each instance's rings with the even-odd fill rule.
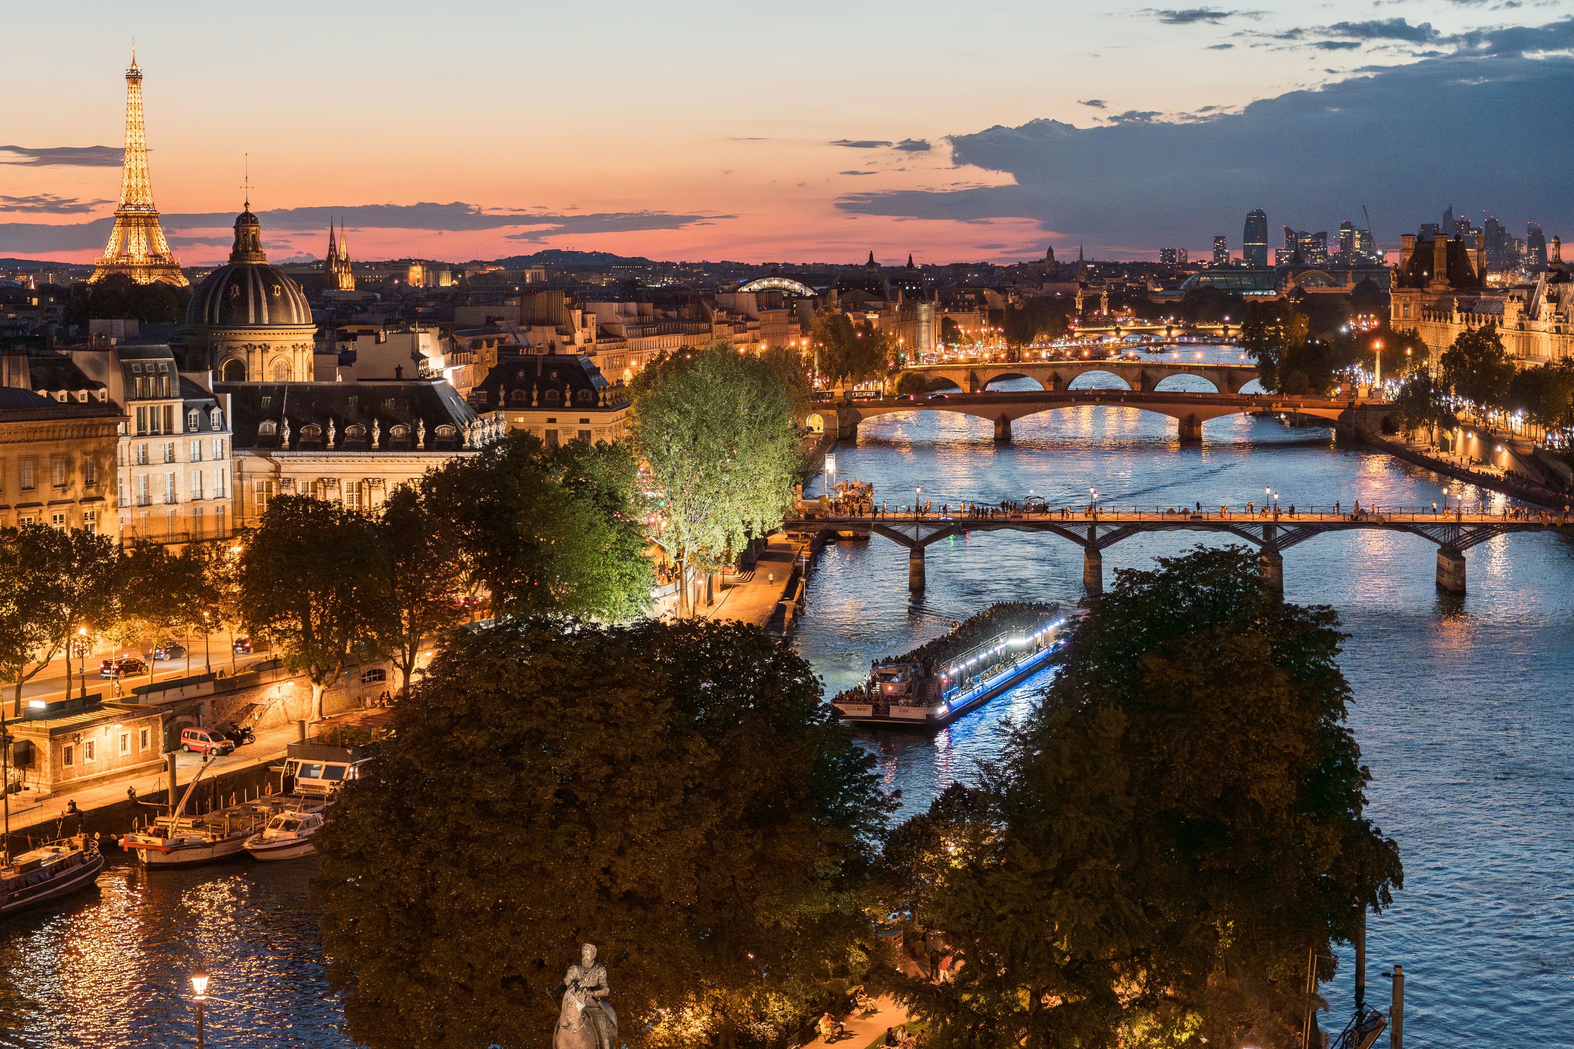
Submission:
[[[145,821],[168,810],[168,761],[175,760],[178,804],[197,778],[203,764],[211,771],[203,778],[203,791],[214,791],[225,801],[231,794],[261,794],[272,788],[279,793],[280,774],[272,769],[283,763],[291,742],[320,734],[334,727],[384,723],[390,712],[384,708],[356,709],[337,714],[315,725],[291,722],[257,733],[257,742],[222,758],[203,760],[198,753],[170,752],[157,772],[98,783],[79,791],[57,791],[49,796],[11,799],[11,837],[6,848],[11,852],[30,848],[30,843],[54,840],[68,834],[124,834],[135,818]],[[72,808],[74,805],[74,808]]]

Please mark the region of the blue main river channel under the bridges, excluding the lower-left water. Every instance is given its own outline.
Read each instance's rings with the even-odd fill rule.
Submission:
[[[1212,420],[1203,447],[1179,445],[1169,418],[1118,407],[1029,417],[1012,431],[1014,442],[998,447],[982,418],[870,420],[856,447],[837,448],[837,478],[874,481],[875,499],[892,505],[922,486],[935,506],[1029,492],[1080,505],[1089,486],[1110,508],[1242,505],[1261,502],[1264,486],[1300,505],[1440,499],[1431,472],[1277,420]],[[1505,502],[1476,489],[1465,499]],[[1103,552],[1105,582],[1118,568],[1147,568],[1154,555],[1196,543],[1221,539],[1171,532],[1119,543]],[[1459,599],[1437,593],[1435,547],[1420,536],[1346,532],[1284,552],[1286,598],[1333,605],[1352,635],[1341,665],[1355,692],[1350,723],[1376,775],[1369,812],[1398,838],[1406,863],[1395,909],[1371,922],[1368,988],[1387,1007],[1379,972],[1404,964],[1415,1046],[1571,1046],[1574,546],[1500,536],[1472,549],[1467,563],[1470,593]],[[929,549],[926,576],[927,590],[911,601],[902,547],[877,536],[826,549],[795,645],[828,694],[863,679],[870,659],[908,651],[990,602],[1083,596],[1081,550],[1044,535],[943,541]],[[903,791],[903,815],[996,755],[996,723],[1020,717],[1042,679],[935,739],[861,734],[888,785]],[[1324,1030],[1336,1032],[1349,1014],[1350,966],[1343,951],[1339,978],[1324,988],[1332,1002]]]

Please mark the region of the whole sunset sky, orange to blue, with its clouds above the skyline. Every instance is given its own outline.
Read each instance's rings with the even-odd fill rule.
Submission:
[[[1273,9],[1269,9],[1273,8]],[[669,259],[1380,242],[1453,204],[1574,236],[1574,3],[800,0],[30,5],[8,16],[0,256],[91,261],[124,68],[186,264],[250,154],[271,258]],[[91,149],[99,146],[99,149]]]

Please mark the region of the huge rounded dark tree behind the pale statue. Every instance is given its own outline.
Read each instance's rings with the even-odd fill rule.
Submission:
[[[759,628],[464,632],[394,730],[335,802],[313,884],[375,1049],[546,1044],[546,992],[586,940],[630,1046],[733,1046],[867,939],[889,802]]]

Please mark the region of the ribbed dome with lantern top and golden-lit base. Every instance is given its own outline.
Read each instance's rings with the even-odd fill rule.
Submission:
[[[250,206],[235,219],[228,266],[208,274],[186,308],[189,370],[222,382],[310,382],[316,324],[301,286],[268,264]]]

